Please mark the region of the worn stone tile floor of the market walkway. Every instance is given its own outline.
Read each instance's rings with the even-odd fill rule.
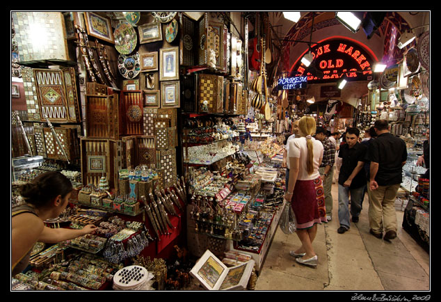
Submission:
[[[392,241],[369,234],[367,196],[358,223],[338,234],[338,189],[332,185],[332,221],[319,225],[313,246],[316,268],[298,264],[289,251],[300,246],[296,234],[280,228],[259,272],[256,291],[428,291],[430,257],[401,228],[404,212],[396,211],[398,237]],[[423,293],[424,294],[424,293]]]

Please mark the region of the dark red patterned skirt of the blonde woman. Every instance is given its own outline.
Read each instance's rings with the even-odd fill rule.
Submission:
[[[298,229],[311,228],[326,219],[325,193],[321,177],[315,180],[297,180],[291,198]]]

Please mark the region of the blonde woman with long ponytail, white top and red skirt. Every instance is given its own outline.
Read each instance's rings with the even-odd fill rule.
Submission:
[[[323,144],[313,138],[315,119],[303,116],[298,123],[298,136],[289,142],[289,183],[285,200],[291,203],[296,214],[297,235],[302,246],[289,254],[296,261],[316,267],[318,257],[312,248],[317,223],[326,221],[325,197],[319,173],[323,158]]]

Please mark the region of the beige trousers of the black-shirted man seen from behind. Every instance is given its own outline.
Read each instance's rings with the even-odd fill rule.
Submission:
[[[392,186],[378,186],[378,189],[369,189],[367,183],[367,194],[369,197],[369,226],[371,229],[381,234],[383,228],[385,232],[394,230],[396,232],[396,212],[395,199],[396,192],[400,184]]]

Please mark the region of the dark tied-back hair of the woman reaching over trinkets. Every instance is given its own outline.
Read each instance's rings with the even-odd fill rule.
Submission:
[[[34,178],[32,182],[21,186],[20,194],[25,202],[35,207],[45,207],[56,196],[65,198],[72,191],[72,183],[59,172],[45,172]]]

